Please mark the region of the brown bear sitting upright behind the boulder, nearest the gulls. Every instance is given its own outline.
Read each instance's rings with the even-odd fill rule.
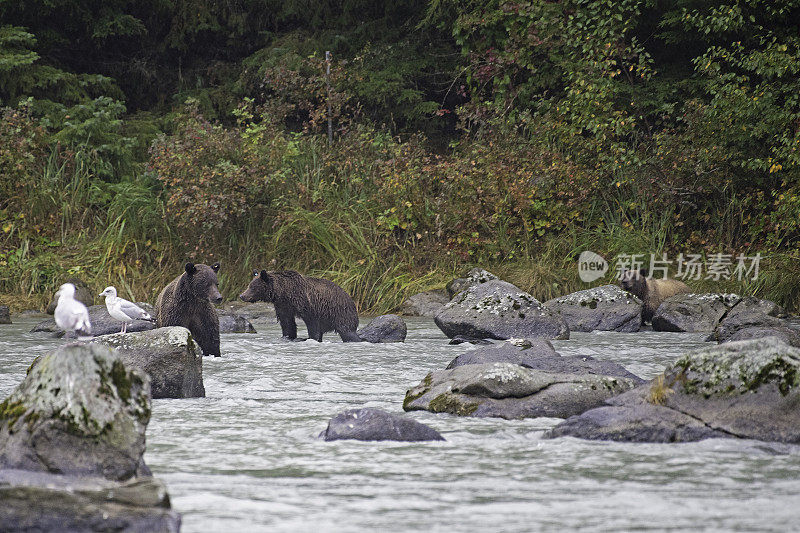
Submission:
[[[183,326],[192,332],[203,355],[219,357],[219,318],[212,304],[222,301],[219,263],[186,263],[184,273],[164,287],[156,301],[156,325]]]

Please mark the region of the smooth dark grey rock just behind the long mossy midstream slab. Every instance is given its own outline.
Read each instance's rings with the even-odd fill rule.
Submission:
[[[447,365],[450,370],[465,365],[487,363],[511,363],[533,370],[559,374],[592,374],[630,379],[634,384],[644,383],[639,376],[629,372],[624,366],[613,361],[601,361],[590,356],[562,356],[553,349],[550,341],[532,339],[524,347],[505,343],[500,346],[478,348],[459,355]]]

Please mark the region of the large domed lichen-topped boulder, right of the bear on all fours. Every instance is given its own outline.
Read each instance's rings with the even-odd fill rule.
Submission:
[[[564,319],[514,285],[491,280],[458,293],[434,322],[448,337],[568,339]]]

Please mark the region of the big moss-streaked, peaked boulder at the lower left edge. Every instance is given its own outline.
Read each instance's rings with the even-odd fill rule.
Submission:
[[[124,481],[140,468],[149,420],[144,372],[106,346],[63,346],[0,404],[0,469]]]

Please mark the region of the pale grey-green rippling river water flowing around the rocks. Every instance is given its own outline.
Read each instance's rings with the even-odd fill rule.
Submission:
[[[60,340],[0,326],[0,399]],[[362,324],[366,320],[362,319]],[[469,345],[430,319],[402,344],[223,335],[206,358],[206,398],[154,400],[145,461],[184,532],[798,531],[800,446],[728,439],[685,444],[542,439],[558,419],[409,413],[446,442],[324,442],[328,419],[362,406],[402,413],[406,389]],[[304,331],[304,328],[299,328]],[[563,355],[657,375],[703,335],[573,333]]]

